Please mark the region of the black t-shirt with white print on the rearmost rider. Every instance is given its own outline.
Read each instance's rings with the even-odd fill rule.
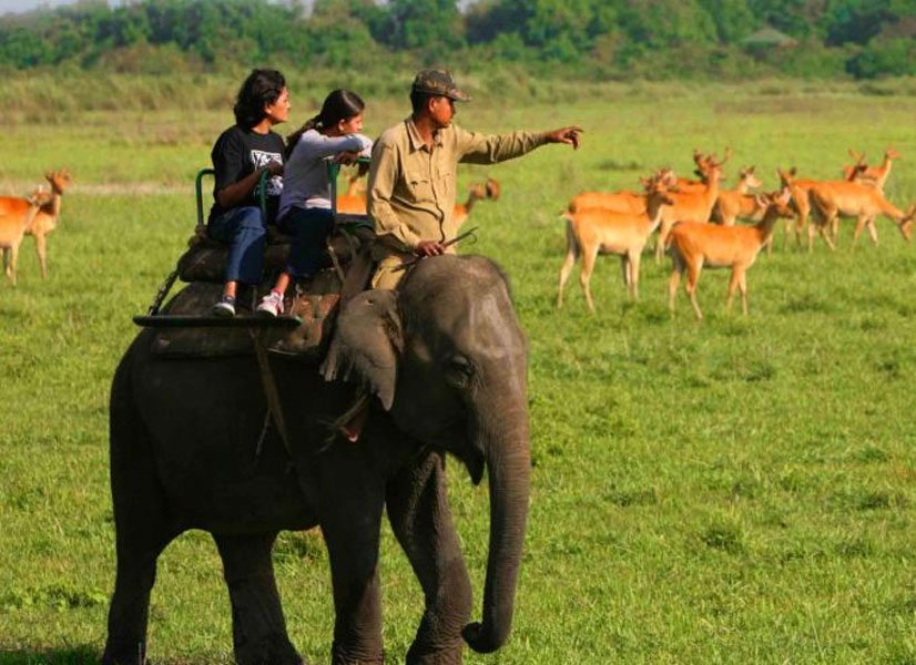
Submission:
[[[265,164],[271,162],[283,163],[283,139],[274,132],[258,134],[238,125],[233,125],[220,134],[216,143],[213,144],[213,151],[210,153],[213,160],[213,168],[216,171],[216,183],[213,186],[214,204],[210,209],[210,218],[212,219],[225,212],[216,203],[216,192],[237,183]],[[282,191],[283,176],[275,175],[267,180],[267,215],[271,219],[276,216]],[[255,187],[251,195],[235,207],[259,206],[261,201],[257,194],[257,187]]]

